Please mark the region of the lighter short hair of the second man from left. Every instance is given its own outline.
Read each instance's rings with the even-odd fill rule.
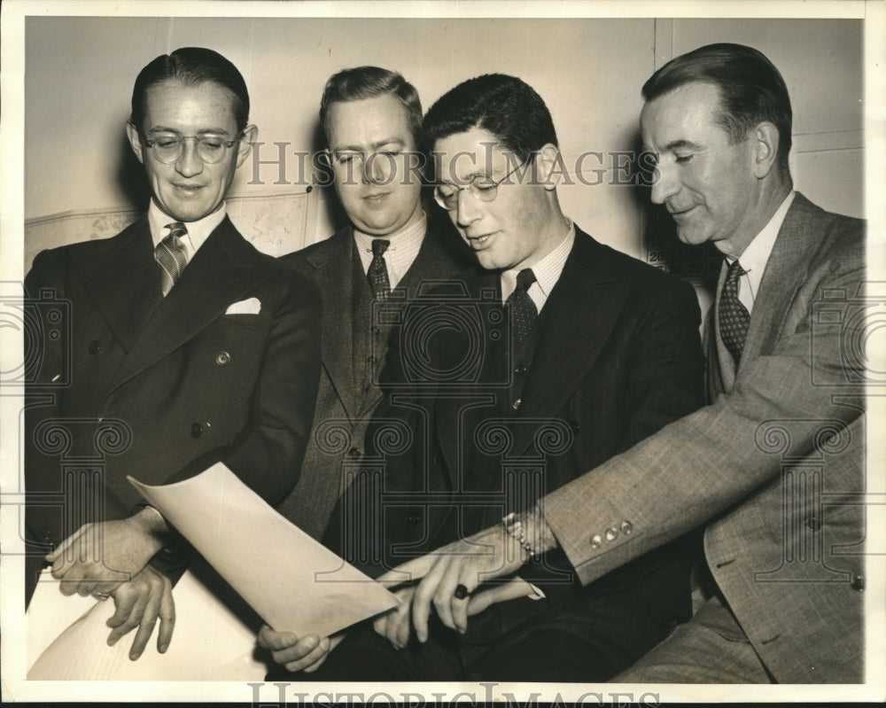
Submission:
[[[416,87],[403,78],[401,74],[383,69],[379,66],[357,66],[332,74],[323,89],[320,99],[320,122],[327,139],[330,135],[330,106],[337,102],[360,101],[363,98],[375,98],[391,94],[399,98],[406,108],[409,129],[421,149],[422,136],[422,102]]]

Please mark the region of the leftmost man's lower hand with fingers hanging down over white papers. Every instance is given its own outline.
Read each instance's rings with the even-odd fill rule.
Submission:
[[[165,575],[146,565],[135,578],[114,590],[113,602],[116,611],[107,621],[107,626],[113,627],[113,632],[108,635],[108,646],[113,647],[120,637],[137,626],[138,632],[129,650],[129,658],[135,661],[142,656],[159,618],[157,650],[160,654],[167,650],[175,629],[175,603],[172,583]]]

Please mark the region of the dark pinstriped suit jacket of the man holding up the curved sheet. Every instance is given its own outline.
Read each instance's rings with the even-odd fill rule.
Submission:
[[[497,272],[465,274],[436,293],[437,303],[411,303],[392,338],[389,398],[368,437],[384,462],[383,488],[352,487],[349,508],[339,511],[344,520],[326,539],[370,574],[498,523],[703,404],[700,318],[689,284],[577,230],[536,322],[530,360],[503,346],[499,283]],[[424,340],[423,332],[438,334]],[[423,377],[429,371],[439,376]],[[392,440],[403,440],[399,449]],[[381,477],[370,462],[363,477]],[[361,499],[378,498],[377,514],[360,508]],[[361,527],[362,519],[374,528]],[[657,603],[685,619],[688,558],[681,546],[670,550],[582,596],[611,594],[619,603],[630,596],[635,607]],[[548,556],[532,571],[552,603],[577,595],[560,565]],[[503,612],[487,638],[544,606],[495,605]],[[472,619],[469,632],[483,624]]]

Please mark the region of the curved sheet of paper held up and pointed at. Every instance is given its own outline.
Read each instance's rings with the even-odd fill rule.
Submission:
[[[328,636],[397,604],[222,463],[174,485],[128,479],[275,629]]]

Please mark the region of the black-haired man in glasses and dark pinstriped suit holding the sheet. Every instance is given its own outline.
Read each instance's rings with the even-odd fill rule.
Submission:
[[[695,292],[563,215],[556,132],[531,87],[471,79],[431,107],[424,128],[435,198],[480,268],[436,303],[410,304],[392,338],[384,412],[408,424],[412,444],[388,450],[383,479],[367,471],[346,494],[343,536],[357,548],[329,539],[375,575],[502,519],[522,538],[515,513],[703,402]],[[457,312],[476,328],[458,326]],[[371,510],[358,498],[381,499],[374,529],[360,525]],[[312,681],[604,681],[688,619],[686,541],[588,587],[559,552],[507,584],[456,587],[476,615],[461,633],[448,628],[447,603],[412,632],[421,598],[404,576],[400,607],[338,646],[267,628],[260,641]]]

